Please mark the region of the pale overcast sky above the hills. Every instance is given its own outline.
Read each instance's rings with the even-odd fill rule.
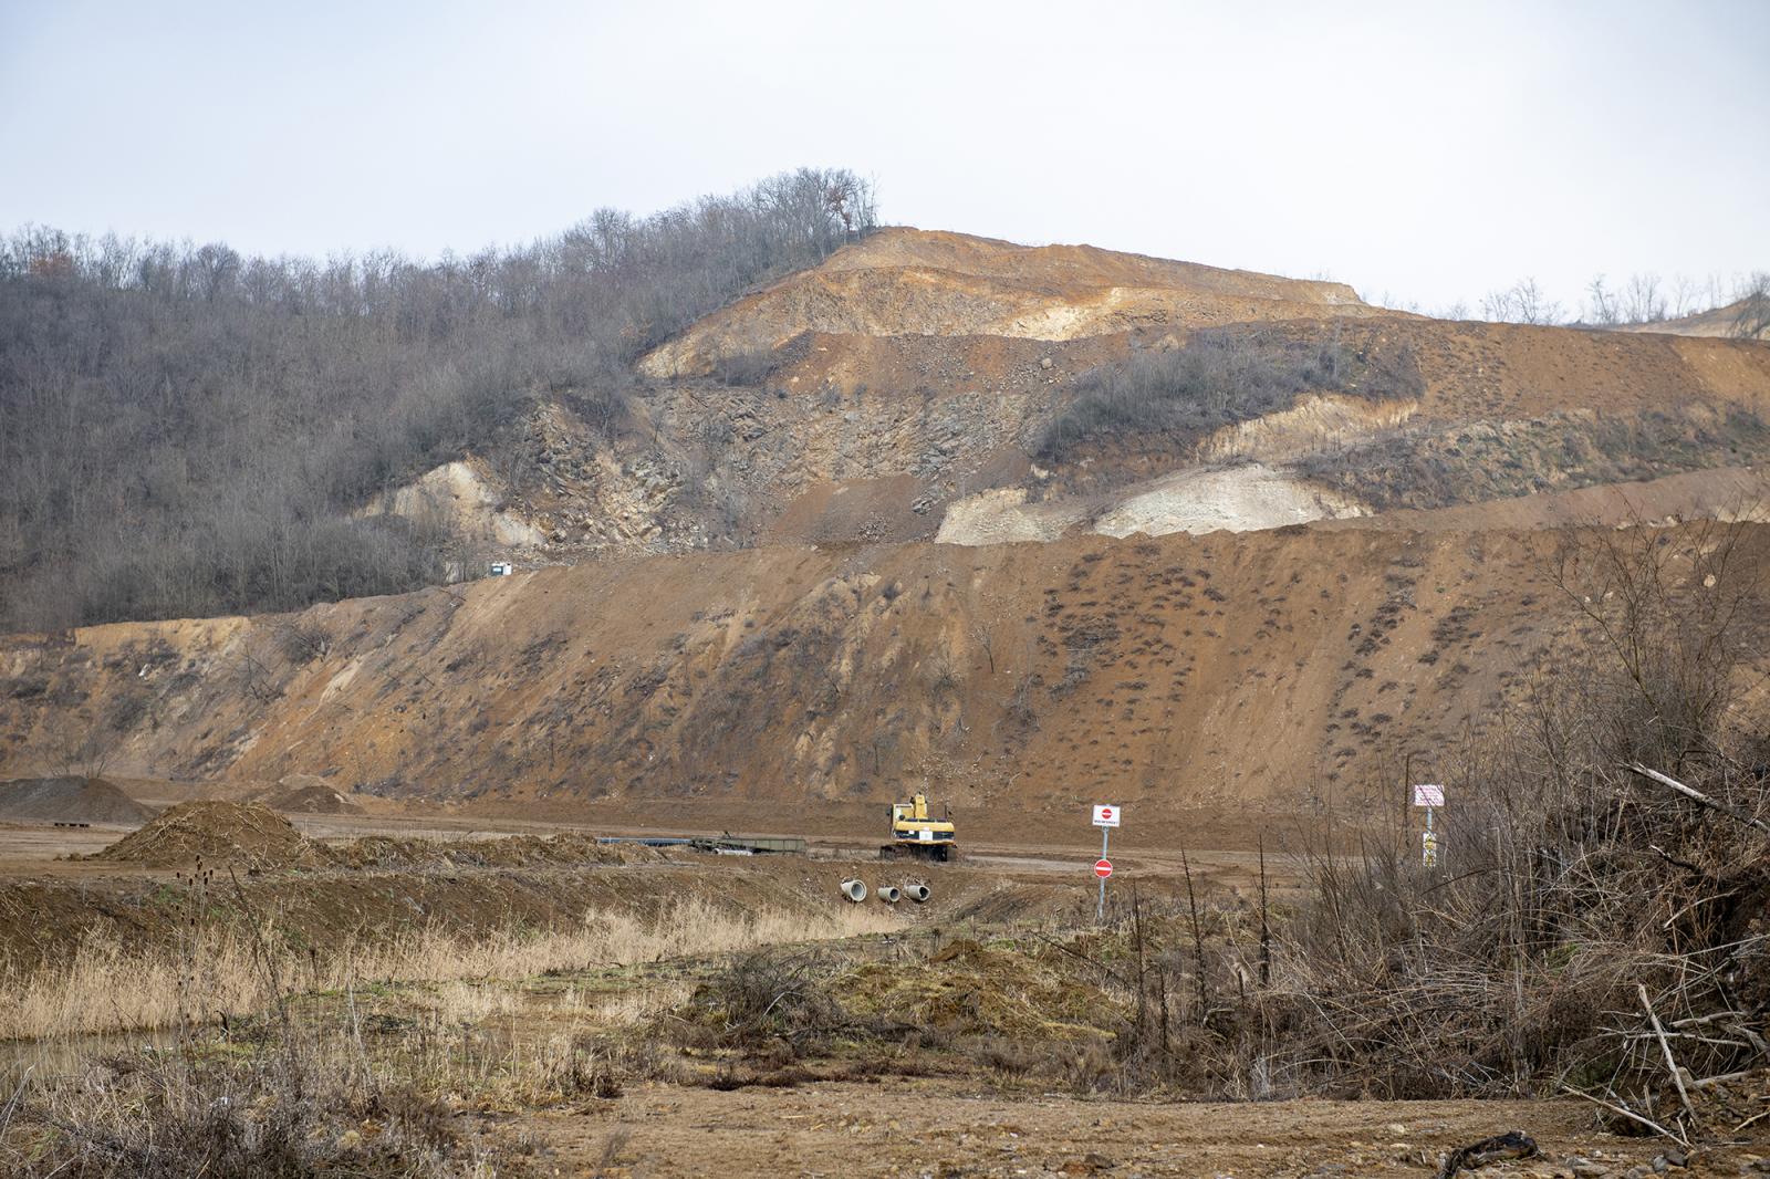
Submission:
[[[1770,0],[0,0],[0,227],[434,257],[796,165],[1439,308],[1770,269]]]

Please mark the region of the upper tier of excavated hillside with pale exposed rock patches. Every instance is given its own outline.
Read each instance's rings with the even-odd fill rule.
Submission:
[[[536,398],[368,510],[442,505],[480,556],[547,563],[1381,519],[1770,455],[1761,343],[1427,320],[1335,283],[917,230],[639,370],[630,395]]]

